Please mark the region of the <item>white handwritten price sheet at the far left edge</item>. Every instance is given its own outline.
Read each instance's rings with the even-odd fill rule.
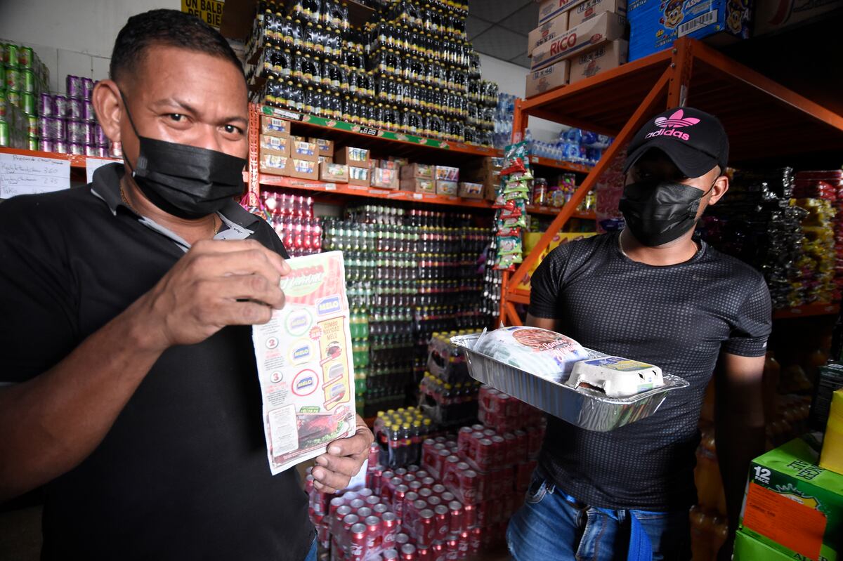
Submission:
[[[70,188],[70,162],[0,154],[0,199]]]

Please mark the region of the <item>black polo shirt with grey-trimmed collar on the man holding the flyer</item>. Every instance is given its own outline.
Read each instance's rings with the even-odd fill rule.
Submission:
[[[0,382],[54,366],[185,254],[121,204],[122,173],[0,205]],[[234,201],[220,215],[217,238],[286,256]],[[166,350],[96,450],[46,485],[42,558],[301,561],[307,506],[294,469],[270,473],[250,328],[228,327]]]

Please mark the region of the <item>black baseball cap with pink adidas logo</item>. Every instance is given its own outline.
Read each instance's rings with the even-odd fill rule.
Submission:
[[[652,148],[658,148],[686,177],[700,177],[720,166],[726,169],[729,139],[714,115],[692,107],[676,107],[648,120],[627,148],[624,173]]]

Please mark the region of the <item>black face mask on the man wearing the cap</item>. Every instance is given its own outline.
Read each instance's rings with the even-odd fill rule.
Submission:
[[[620,211],[636,240],[654,248],[674,241],[694,227],[700,200],[711,189],[703,193],[672,181],[628,184],[620,197]]]

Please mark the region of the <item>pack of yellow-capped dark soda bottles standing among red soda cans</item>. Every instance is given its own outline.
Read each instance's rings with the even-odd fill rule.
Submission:
[[[379,411],[374,421],[375,443],[379,447],[378,463],[387,468],[403,468],[418,463],[421,442],[431,435],[431,419],[416,407]]]

